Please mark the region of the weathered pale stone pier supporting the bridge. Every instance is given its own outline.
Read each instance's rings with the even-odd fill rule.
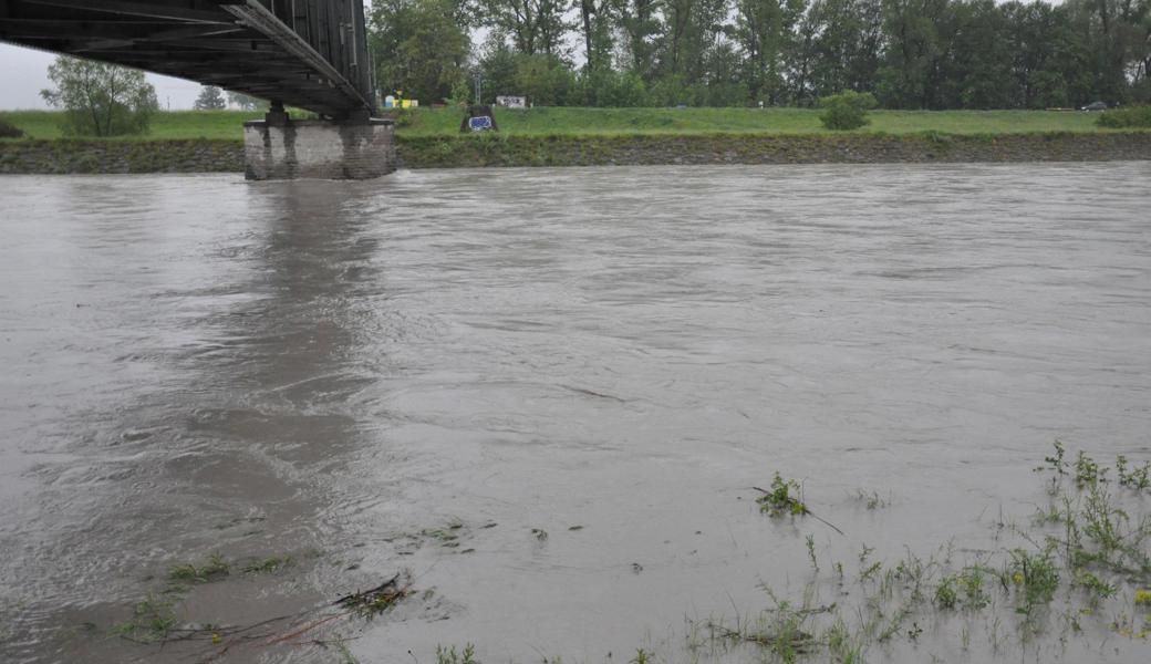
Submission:
[[[244,123],[247,180],[368,180],[396,169],[390,120],[289,120],[273,109]]]

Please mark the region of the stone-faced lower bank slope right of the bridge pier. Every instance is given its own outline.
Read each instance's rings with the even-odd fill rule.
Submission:
[[[1130,161],[1151,132],[398,137],[402,167]]]

